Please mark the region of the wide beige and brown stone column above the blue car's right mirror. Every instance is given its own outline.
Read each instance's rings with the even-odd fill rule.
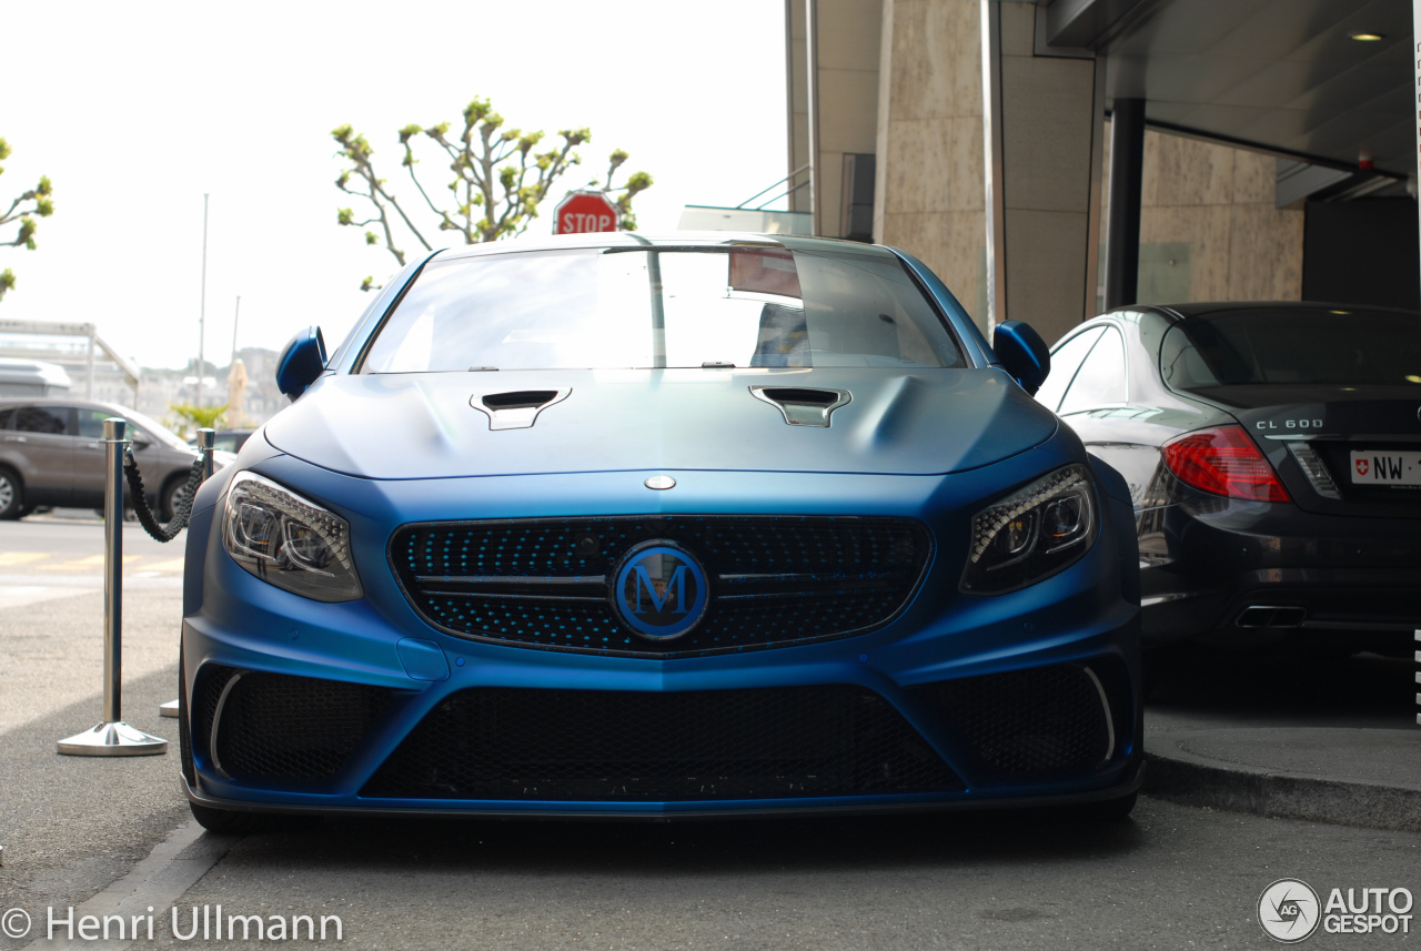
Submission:
[[[1094,315],[1104,77],[1088,54],[1037,48],[1036,11],[884,0],[874,237],[919,255],[983,329],[1022,319],[1054,341]]]

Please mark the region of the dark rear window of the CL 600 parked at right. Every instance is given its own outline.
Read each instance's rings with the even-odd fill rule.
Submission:
[[[1421,383],[1421,319],[1313,308],[1191,317],[1165,334],[1160,372],[1177,390],[1241,383]]]

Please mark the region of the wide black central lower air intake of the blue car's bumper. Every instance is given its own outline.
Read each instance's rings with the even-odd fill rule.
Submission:
[[[961,788],[918,731],[863,687],[480,687],[435,707],[361,795],[684,802]]]

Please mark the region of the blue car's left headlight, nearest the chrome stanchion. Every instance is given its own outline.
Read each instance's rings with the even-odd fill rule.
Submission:
[[[345,520],[256,473],[237,473],[227,487],[222,545],[261,581],[303,598],[361,596]]]

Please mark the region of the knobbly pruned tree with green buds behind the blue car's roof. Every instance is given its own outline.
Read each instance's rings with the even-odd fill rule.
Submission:
[[[350,167],[335,179],[335,187],[362,199],[367,206],[364,219],[354,209],[340,209],[340,224],[367,229],[365,244],[387,248],[401,265],[406,260],[404,247],[411,238],[425,251],[433,250],[425,237],[428,224],[422,230],[419,221],[433,223],[439,231],[453,231],[465,244],[516,237],[537,217],[539,204],[553,183],[581,162],[574,149],[593,138],[585,128],[563,129],[557,133],[558,142],[539,152],[544,135],[504,128],[503,116],[493,111],[489,99],[475,99],[463,108],[460,118],[463,128],[458,132],[449,122],[426,128],[406,125],[399,131],[404,149],[401,166],[418,194],[409,209],[375,170],[375,150],[365,136],[350,125],[333,129],[331,138],[341,146],[340,156],[350,162]],[[433,146],[425,146],[428,152],[439,155],[441,160],[448,159],[453,179],[443,190],[431,192],[419,179],[416,166],[421,159],[415,155],[415,142],[421,139],[433,142]],[[645,172],[637,172],[614,187],[612,177],[624,162],[625,152],[612,152],[605,180],[594,179],[588,187],[604,192],[615,202],[621,227],[631,230],[637,227],[631,202],[651,187],[652,179]],[[374,278],[369,277],[361,284],[361,290],[372,287]]]

